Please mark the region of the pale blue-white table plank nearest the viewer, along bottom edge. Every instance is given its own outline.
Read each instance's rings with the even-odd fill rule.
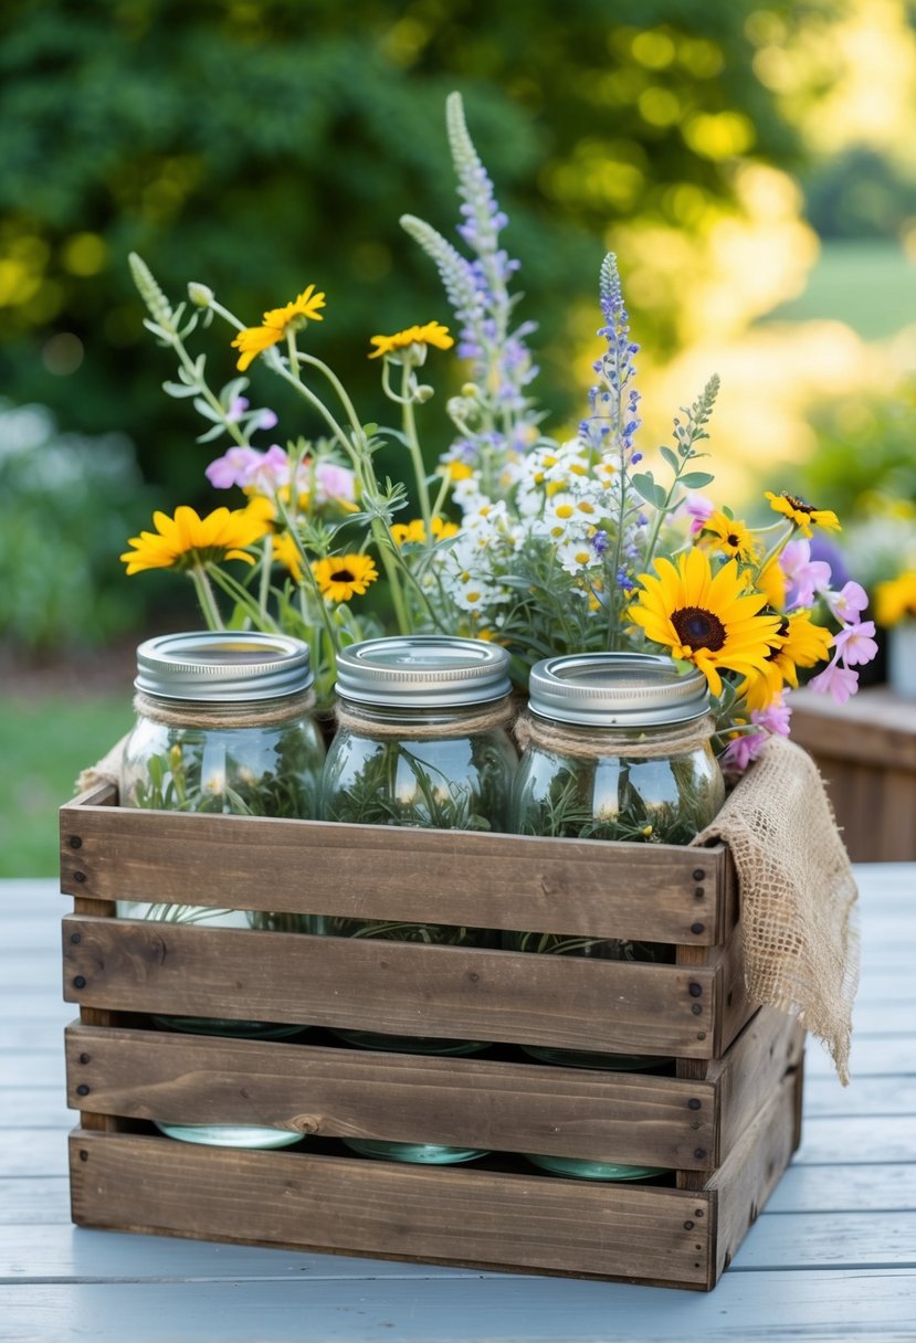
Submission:
[[[391,1277],[0,1288],[4,1343],[913,1343],[913,1276],[725,1273],[715,1293],[614,1283]],[[862,1308],[868,1292],[868,1309]],[[142,1332],[140,1332],[142,1331]]]

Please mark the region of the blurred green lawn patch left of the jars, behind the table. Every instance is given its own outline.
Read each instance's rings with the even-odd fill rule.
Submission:
[[[130,696],[0,697],[0,877],[58,872],[58,807],[133,724]]]

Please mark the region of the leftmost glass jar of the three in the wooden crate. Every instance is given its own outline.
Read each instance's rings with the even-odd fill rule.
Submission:
[[[137,723],[121,761],[121,803],[163,811],[250,817],[317,815],[324,743],[312,720],[309,649],[281,634],[199,631],[148,639],[137,650]],[[118,901],[132,919],[306,931],[294,915]],[[201,1034],[277,1037],[300,1026],[199,1017],[154,1018]],[[169,1125],[188,1142],[281,1146],[279,1129]],[[207,1136],[210,1135],[210,1136]]]

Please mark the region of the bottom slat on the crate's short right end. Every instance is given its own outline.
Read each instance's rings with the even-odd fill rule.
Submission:
[[[715,1201],[716,1223],[711,1285],[735,1258],[791,1160],[796,1146],[798,1091],[798,1076],[787,1076],[705,1186]]]

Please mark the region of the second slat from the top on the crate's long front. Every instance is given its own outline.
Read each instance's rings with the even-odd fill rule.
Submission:
[[[70,916],[64,999],[563,1049],[713,1054],[719,978],[578,956]]]

